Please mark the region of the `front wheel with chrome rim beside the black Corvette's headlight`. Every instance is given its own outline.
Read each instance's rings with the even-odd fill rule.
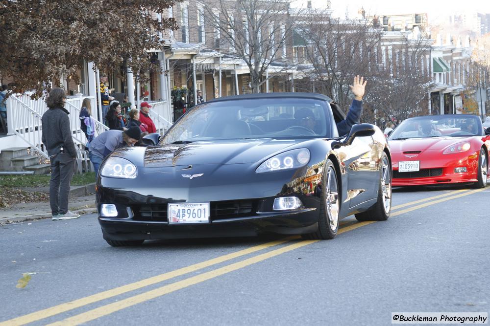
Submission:
[[[335,170],[335,166],[330,159],[327,159],[323,171],[318,230],[313,233],[302,235],[304,239],[333,239],[339,230],[339,212],[341,205],[341,200],[339,200],[339,180],[337,178],[338,174]],[[328,183],[329,179],[330,184]],[[330,204],[327,204],[327,199]],[[336,221],[335,216],[332,216],[332,214],[337,215]]]

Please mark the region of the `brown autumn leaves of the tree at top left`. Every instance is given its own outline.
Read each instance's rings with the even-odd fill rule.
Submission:
[[[0,77],[13,78],[15,92],[40,95],[50,82],[76,78],[84,60],[105,72],[129,61],[133,72],[157,71],[147,51],[162,47],[159,32],[175,22],[155,12],[174,2],[0,0]]]

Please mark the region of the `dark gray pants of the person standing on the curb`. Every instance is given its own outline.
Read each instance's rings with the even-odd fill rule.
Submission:
[[[75,160],[66,153],[56,154],[51,158],[51,180],[49,181],[49,204],[51,214],[68,212],[70,182],[75,171]]]

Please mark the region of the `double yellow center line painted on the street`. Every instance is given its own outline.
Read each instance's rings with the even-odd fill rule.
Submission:
[[[429,198],[424,198],[424,199],[412,201],[409,203],[393,206],[392,210],[396,210],[399,208],[418,204],[416,206],[411,206],[409,208],[393,212],[391,214],[391,216],[394,217],[394,216],[397,216],[400,214],[404,214],[404,213],[408,213],[408,212],[417,210],[417,209],[422,208],[422,207],[434,205],[434,204],[437,204],[437,203],[440,203],[443,201],[459,198],[462,196],[471,195],[471,194],[478,193],[478,192],[483,191],[483,190],[485,190],[485,188],[477,189],[477,190],[471,190],[471,191],[456,190],[456,191],[451,191],[451,192],[448,192],[445,194],[432,196]],[[341,226],[346,225],[346,224],[350,224],[350,225],[341,227],[338,231],[338,234],[342,234],[342,233],[345,233],[347,231],[354,230],[354,229],[357,229],[359,227],[362,227],[362,226],[365,226],[365,225],[368,225],[371,223],[374,223],[374,221],[360,222],[360,223],[354,223],[354,224],[350,224],[348,222],[347,223],[341,223]],[[99,292],[97,294],[94,294],[94,295],[91,295],[88,297],[84,297],[81,299],[77,299],[77,300],[74,300],[74,301],[71,301],[71,302],[68,302],[65,304],[59,304],[59,305],[56,305],[56,306],[53,306],[50,308],[46,308],[43,310],[39,310],[39,311],[36,311],[33,313],[26,314],[26,315],[21,316],[21,317],[10,319],[10,320],[7,320],[5,322],[1,322],[0,326],[25,325],[28,323],[32,323],[32,322],[35,322],[35,321],[38,321],[41,319],[45,319],[45,318],[48,318],[48,317],[51,317],[54,315],[61,314],[61,313],[66,312],[66,311],[70,311],[72,309],[75,309],[75,308],[78,308],[81,306],[93,304],[93,303],[96,303],[98,301],[109,299],[109,298],[130,292],[130,291],[134,291],[137,289],[141,289],[141,288],[149,286],[149,285],[153,285],[153,284],[160,283],[160,282],[163,282],[166,280],[170,280],[172,278],[176,278],[176,277],[179,277],[179,276],[191,273],[191,272],[196,272],[200,269],[203,269],[203,268],[206,268],[206,267],[209,267],[212,265],[216,265],[216,264],[219,264],[219,263],[222,263],[225,261],[230,261],[230,260],[245,256],[245,255],[253,254],[255,252],[258,252],[258,251],[261,251],[264,249],[268,249],[268,248],[273,247],[273,246],[281,245],[281,244],[284,244],[286,242],[289,242],[291,240],[296,240],[296,239],[300,239],[300,237],[293,236],[293,237],[288,237],[288,238],[284,238],[284,239],[260,244],[257,246],[253,246],[251,248],[247,248],[247,249],[240,250],[240,251],[237,251],[234,253],[223,255],[223,256],[220,256],[220,257],[217,257],[214,259],[210,259],[207,261],[199,262],[199,263],[187,266],[187,267],[179,268],[179,269],[176,269],[174,271],[164,273],[164,274],[160,274],[160,275],[157,275],[157,276],[154,276],[154,277],[142,280],[142,281],[126,284],[126,285],[116,287],[116,288],[111,289],[111,290]],[[155,288],[153,290],[149,290],[149,291],[146,291],[144,293],[134,295],[134,296],[131,296],[129,298],[126,298],[126,299],[123,299],[123,300],[120,300],[120,301],[117,301],[117,302],[114,302],[111,304],[102,305],[98,308],[80,313],[80,314],[75,315],[73,317],[69,317],[69,318],[64,319],[62,321],[59,321],[59,322],[56,322],[53,324],[49,324],[49,325],[79,325],[82,323],[86,323],[86,322],[89,322],[91,320],[100,318],[102,316],[109,315],[113,312],[122,310],[124,308],[130,307],[132,305],[139,304],[139,303],[142,303],[142,302],[163,296],[165,294],[177,291],[179,289],[189,287],[191,285],[216,278],[218,276],[236,271],[238,269],[244,268],[244,267],[249,266],[251,264],[255,264],[257,262],[264,261],[264,260],[269,259],[271,257],[275,257],[278,255],[284,254],[286,252],[292,251],[294,249],[297,249],[297,248],[300,248],[300,247],[303,247],[303,246],[306,246],[306,245],[309,245],[311,243],[315,243],[318,241],[319,240],[303,240],[303,241],[294,242],[293,244],[283,246],[281,248],[271,250],[269,252],[259,254],[257,256],[251,257],[251,258],[247,258],[243,261],[234,262],[234,263],[228,264],[226,266],[219,267],[217,269],[214,269],[214,270],[211,270],[208,272],[204,272],[202,274],[192,276],[192,277],[186,278],[186,279],[181,280],[181,281],[177,281],[174,283],[163,285],[163,286]]]

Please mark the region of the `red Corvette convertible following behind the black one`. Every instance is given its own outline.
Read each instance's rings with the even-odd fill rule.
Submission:
[[[392,186],[487,184],[490,128],[470,114],[409,118],[388,137]]]

